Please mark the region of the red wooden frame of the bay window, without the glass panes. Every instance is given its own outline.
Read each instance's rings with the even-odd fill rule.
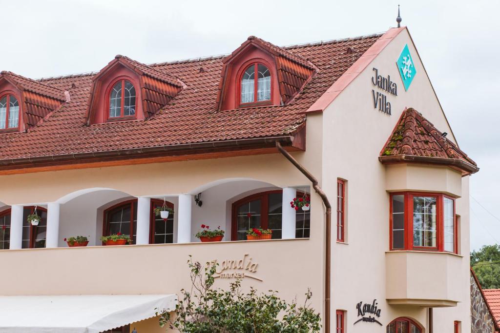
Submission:
[[[402,249],[392,248],[392,198],[395,195],[404,196],[404,247]],[[435,197],[436,198],[436,246],[435,247],[419,247],[413,246],[413,197]],[[453,252],[444,251],[444,198],[453,201]],[[394,192],[389,195],[389,249],[391,251],[436,251],[457,253],[458,250],[458,236],[457,236],[457,223],[456,223],[456,203],[455,198],[442,193],[433,192]]]

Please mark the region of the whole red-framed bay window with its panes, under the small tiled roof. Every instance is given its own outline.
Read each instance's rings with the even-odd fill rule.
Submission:
[[[390,195],[390,249],[456,253],[454,199],[439,193]]]

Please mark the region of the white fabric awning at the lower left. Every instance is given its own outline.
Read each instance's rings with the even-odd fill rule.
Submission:
[[[172,295],[0,296],[0,332],[99,333],[175,310]]]

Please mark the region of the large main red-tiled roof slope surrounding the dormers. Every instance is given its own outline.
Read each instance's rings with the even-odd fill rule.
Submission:
[[[223,57],[211,57],[147,66],[185,84],[150,119],[83,126],[92,75],[42,79],[41,84],[56,91],[69,90],[71,100],[28,133],[1,134],[0,165],[10,165],[15,159],[34,161],[35,157],[53,159],[53,156],[63,159],[73,154],[292,135],[305,122],[303,112],[379,37],[377,34],[278,48],[284,58],[306,59],[303,65],[310,62],[318,69],[300,93],[284,106],[215,111]],[[144,72],[146,69],[141,68]],[[150,76],[153,75],[159,74]]]

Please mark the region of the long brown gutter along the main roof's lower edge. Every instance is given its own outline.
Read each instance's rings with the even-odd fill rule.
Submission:
[[[291,145],[294,137],[276,136],[257,139],[242,139],[242,140],[225,140],[225,141],[209,141],[200,143],[188,143],[166,146],[153,146],[144,148],[131,148],[121,150],[96,151],[87,153],[63,154],[52,156],[34,156],[24,158],[12,158],[0,160],[0,167],[12,168],[15,166],[24,166],[29,164],[53,163],[53,162],[73,162],[79,160],[98,159],[98,158],[138,158],[144,155],[165,153],[188,153],[196,150],[210,149],[229,149],[229,148],[252,148],[252,147],[273,147],[275,142],[284,142],[287,146]]]

